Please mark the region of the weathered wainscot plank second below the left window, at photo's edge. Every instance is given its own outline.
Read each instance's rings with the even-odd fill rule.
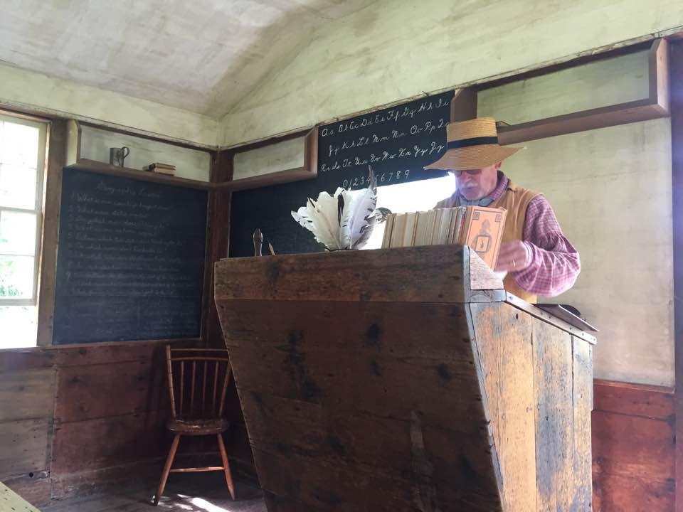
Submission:
[[[55,370],[0,373],[0,422],[52,420],[54,403]]]

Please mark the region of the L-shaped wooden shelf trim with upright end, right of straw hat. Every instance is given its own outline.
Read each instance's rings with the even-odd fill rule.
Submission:
[[[500,127],[500,144],[518,144],[630,122],[647,121],[669,115],[669,43],[652,42],[648,55],[649,95],[642,100],[572,112],[521,124]]]

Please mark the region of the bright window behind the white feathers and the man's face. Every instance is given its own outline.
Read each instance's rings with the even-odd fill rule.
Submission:
[[[377,208],[388,208],[391,213],[431,210],[436,203],[450,196],[453,191],[455,176],[452,174],[442,178],[381,186],[377,188]],[[386,223],[376,226],[363,249],[382,247],[385,227]]]

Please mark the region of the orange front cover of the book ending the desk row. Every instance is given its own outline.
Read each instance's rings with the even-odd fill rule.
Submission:
[[[467,213],[470,213],[470,218],[467,219],[466,245],[477,252],[477,255],[492,270],[495,270],[507,210],[485,206],[471,206],[467,210],[469,210]]]

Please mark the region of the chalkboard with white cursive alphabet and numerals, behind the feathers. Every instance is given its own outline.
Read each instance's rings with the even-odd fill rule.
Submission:
[[[317,178],[233,193],[231,257],[253,256],[256,228],[278,254],[322,250],[290,212],[321,191],[365,188],[368,165],[378,186],[445,176],[445,171],[425,171],[423,166],[445,153],[454,94],[444,92],[319,127]]]

